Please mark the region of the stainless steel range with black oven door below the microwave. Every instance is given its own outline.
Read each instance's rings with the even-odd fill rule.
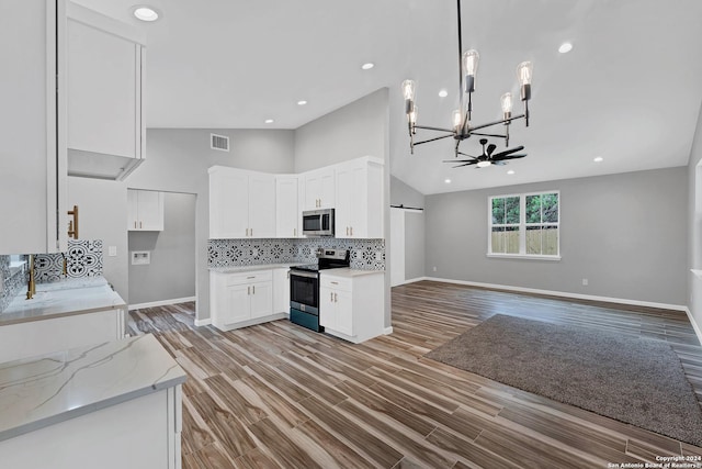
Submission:
[[[303,327],[322,332],[319,325],[319,271],[349,267],[348,249],[317,249],[317,264],[290,269],[290,320]]]

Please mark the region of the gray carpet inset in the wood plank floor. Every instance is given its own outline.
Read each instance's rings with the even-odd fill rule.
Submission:
[[[497,314],[424,357],[702,446],[702,412],[665,342]]]

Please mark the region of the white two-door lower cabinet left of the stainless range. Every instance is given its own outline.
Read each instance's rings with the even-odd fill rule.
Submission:
[[[210,272],[212,324],[229,331],[282,319],[273,311],[273,271]]]

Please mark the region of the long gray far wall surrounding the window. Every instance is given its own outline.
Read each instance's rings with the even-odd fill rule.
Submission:
[[[428,276],[686,304],[687,168],[427,197]],[[487,253],[488,196],[561,191],[562,260]],[[433,271],[433,267],[437,271]],[[582,286],[587,278],[589,286]]]

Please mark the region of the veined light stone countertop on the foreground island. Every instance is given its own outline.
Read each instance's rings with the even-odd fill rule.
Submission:
[[[150,334],[0,364],[0,442],[184,381]]]

